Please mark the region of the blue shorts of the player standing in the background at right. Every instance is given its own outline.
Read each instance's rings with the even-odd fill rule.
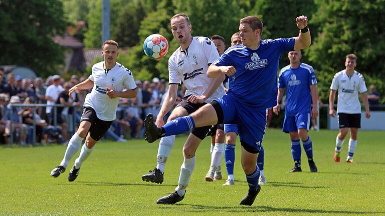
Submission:
[[[310,127],[310,113],[298,113],[295,116],[286,116],[283,120],[284,132],[298,131],[299,128],[309,130]]]

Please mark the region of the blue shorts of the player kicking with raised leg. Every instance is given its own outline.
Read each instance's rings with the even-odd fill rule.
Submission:
[[[237,123],[238,134],[242,142],[246,142],[254,150],[260,150],[266,128],[267,109],[257,109],[236,101],[225,94],[216,99],[223,111],[223,123]]]

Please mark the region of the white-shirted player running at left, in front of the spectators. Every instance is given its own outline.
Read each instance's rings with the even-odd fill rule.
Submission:
[[[53,177],[66,170],[69,161],[86,138],[80,155],[68,175],[68,180],[74,181],[79,174],[80,166],[115,119],[119,98],[136,97],[137,89],[132,72],[116,62],[118,49],[117,42],[106,40],[102,46],[104,61],[94,64],[88,79],[69,90],[68,95],[72,99],[72,92],[92,88],[83,104],[80,126],[70,139],[62,162],[51,171]]]

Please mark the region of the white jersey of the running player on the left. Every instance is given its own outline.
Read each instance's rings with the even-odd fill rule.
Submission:
[[[109,98],[107,87],[115,91],[135,89],[136,84],[132,72],[116,62],[112,69],[103,68],[104,61],[92,66],[92,73],[88,77],[94,82],[94,87],[87,94],[83,106],[90,106],[96,111],[96,116],[101,120],[111,121],[116,118],[116,109],[120,97]]]

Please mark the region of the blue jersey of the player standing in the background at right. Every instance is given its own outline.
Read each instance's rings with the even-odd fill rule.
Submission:
[[[310,85],[317,84],[313,67],[300,63],[297,68],[285,66],[279,72],[278,87],[286,88],[285,114],[309,113],[311,109]]]

